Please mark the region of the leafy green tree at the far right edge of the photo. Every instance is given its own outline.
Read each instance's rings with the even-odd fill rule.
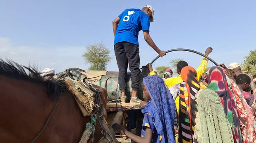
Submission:
[[[249,75],[256,74],[256,50],[251,50],[249,56],[244,57],[242,70],[247,71]]]

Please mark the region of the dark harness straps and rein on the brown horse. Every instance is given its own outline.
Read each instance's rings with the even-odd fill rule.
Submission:
[[[101,96],[100,96],[101,90],[100,89],[96,89],[92,85],[92,82],[89,79],[87,79],[87,76],[83,75],[80,71],[85,72],[84,70],[79,69],[79,68],[69,68],[66,71],[62,72],[62,73],[58,73],[58,74],[54,75],[55,76],[54,78],[55,79],[63,80],[65,77],[69,77],[69,78],[75,80],[73,78],[73,76],[74,76],[74,77],[77,77],[77,80],[79,80],[82,77],[83,81],[81,81],[81,80],[80,81],[83,82],[83,84],[85,84],[85,86],[87,86],[89,89],[91,89],[92,91],[94,91],[96,93],[96,96],[94,96],[94,102],[96,102],[96,104],[99,105],[99,107],[97,107],[97,108],[95,107],[94,108],[94,111],[93,111],[93,113],[91,115],[91,118],[95,118],[95,119],[98,118],[98,123],[99,123],[99,125],[101,127],[101,134],[103,135],[103,138],[106,138],[109,143],[112,143],[114,141],[114,138],[113,138],[113,136],[110,133],[110,130],[108,128],[108,123],[107,123],[106,118],[104,116],[104,111],[103,111],[104,107],[103,107],[103,104],[101,103],[102,100],[101,100]],[[53,116],[54,111],[56,110],[56,108],[57,108],[57,106],[59,104],[59,100],[61,98],[61,93],[62,93],[62,91],[60,92],[59,97],[58,97],[58,99],[56,101],[56,104],[54,105],[54,108],[52,109],[49,117],[47,118],[47,121],[45,122],[45,125],[42,127],[42,129],[40,130],[38,135],[35,136],[33,141],[31,141],[31,143],[34,143],[40,137],[40,135],[44,131],[45,127],[49,123],[50,119]],[[95,126],[94,126],[94,128],[95,128]],[[92,135],[91,135],[91,141],[92,142],[94,141],[94,132],[95,132],[95,130],[92,132]]]

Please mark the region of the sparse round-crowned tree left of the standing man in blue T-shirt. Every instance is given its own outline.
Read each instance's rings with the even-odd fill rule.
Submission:
[[[110,50],[102,42],[92,45],[87,45],[82,57],[85,63],[89,63],[88,70],[106,70],[106,65],[111,61],[109,55]]]

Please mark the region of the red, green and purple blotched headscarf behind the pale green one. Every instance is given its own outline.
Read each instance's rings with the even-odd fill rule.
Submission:
[[[230,80],[226,77],[221,67],[214,66],[209,69],[208,83],[207,89],[215,91],[221,98],[225,114],[234,132],[235,143],[242,143],[237,105],[235,97],[229,88]]]

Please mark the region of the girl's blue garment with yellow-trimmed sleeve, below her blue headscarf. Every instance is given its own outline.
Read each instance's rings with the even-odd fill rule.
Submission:
[[[144,119],[143,119],[142,129],[141,129],[141,137],[145,136],[146,128],[150,128],[153,131],[152,143],[161,143],[162,137],[158,136],[157,130],[153,123],[153,119],[151,118],[149,113],[144,114]]]

